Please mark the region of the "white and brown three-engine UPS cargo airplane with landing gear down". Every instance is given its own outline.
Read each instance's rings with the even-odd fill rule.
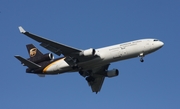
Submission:
[[[82,50],[32,34],[21,26],[19,26],[19,31],[54,54],[63,55],[54,59],[52,53],[42,54],[33,44],[28,44],[26,46],[30,58],[15,56],[24,66],[28,67],[27,73],[44,77],[45,75],[79,72],[86,79],[92,92],[96,94],[101,90],[105,77],[116,77],[119,74],[118,69],[108,70],[110,63],[136,57],[140,57],[140,62],[144,62],[144,56],[157,51],[164,45],[158,39],[148,38]]]

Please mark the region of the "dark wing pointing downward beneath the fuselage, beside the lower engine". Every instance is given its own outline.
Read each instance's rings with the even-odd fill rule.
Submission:
[[[94,82],[88,83],[91,86],[92,92],[98,93],[101,90],[101,87],[105,79],[104,73],[108,69],[108,67],[109,64],[104,65],[93,73],[92,77],[94,78]]]

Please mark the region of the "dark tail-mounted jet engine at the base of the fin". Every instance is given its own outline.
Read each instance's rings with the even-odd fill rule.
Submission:
[[[40,62],[44,62],[44,61],[50,61],[53,60],[54,56],[52,53],[46,53],[41,57],[34,57],[34,58],[29,58],[28,60],[34,62],[34,63],[40,63]]]

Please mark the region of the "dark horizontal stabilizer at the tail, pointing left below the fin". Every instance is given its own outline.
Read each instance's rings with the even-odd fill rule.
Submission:
[[[24,59],[21,56],[16,55],[14,57],[17,58],[19,61],[21,61],[21,63],[23,63],[25,66],[27,66],[30,69],[37,69],[37,68],[41,67],[40,65],[38,65],[32,61],[29,61],[27,59]]]

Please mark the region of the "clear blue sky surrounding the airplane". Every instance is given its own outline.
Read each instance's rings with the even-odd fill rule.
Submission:
[[[0,1],[0,108],[180,108],[179,0],[31,0]],[[100,93],[91,92],[78,73],[39,78],[25,73],[14,55],[28,57],[32,39],[18,26],[80,49],[99,48],[141,38],[165,45],[139,58],[112,63],[120,75],[107,78]],[[58,56],[55,56],[58,57]]]

